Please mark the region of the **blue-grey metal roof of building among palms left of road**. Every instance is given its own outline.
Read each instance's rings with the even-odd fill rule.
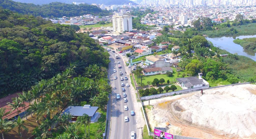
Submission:
[[[84,106],[69,106],[63,113],[67,112],[73,116],[83,116],[83,114],[87,114],[88,116],[92,117],[99,107],[93,107],[90,105]]]

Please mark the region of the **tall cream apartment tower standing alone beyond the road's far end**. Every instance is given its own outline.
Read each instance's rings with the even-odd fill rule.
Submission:
[[[112,17],[114,33],[123,33],[124,31],[132,31],[131,14],[116,13]]]

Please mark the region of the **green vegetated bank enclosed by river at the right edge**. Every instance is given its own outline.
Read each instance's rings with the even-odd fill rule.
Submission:
[[[256,38],[235,39],[234,43],[241,45],[244,49],[253,50],[256,52]]]

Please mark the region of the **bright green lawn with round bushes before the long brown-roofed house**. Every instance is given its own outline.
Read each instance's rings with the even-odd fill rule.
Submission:
[[[172,67],[173,68],[173,67]],[[177,71],[176,71],[176,68],[173,68],[173,76],[172,77],[168,77],[166,74],[157,74],[157,75],[150,75],[150,76],[145,76],[143,79],[142,79],[142,83],[144,83],[145,85],[147,85],[147,81],[153,81],[155,78],[157,78],[158,80],[161,79],[161,78],[164,78],[165,80],[165,83],[167,82],[167,80],[171,82],[175,82],[175,79],[176,78],[182,78],[182,74],[185,73],[184,71],[179,71],[180,75],[179,77],[177,77]],[[185,77],[188,77],[187,75]],[[141,80],[138,79],[136,77],[136,75],[134,76],[135,80],[137,81],[137,83],[140,83]]]

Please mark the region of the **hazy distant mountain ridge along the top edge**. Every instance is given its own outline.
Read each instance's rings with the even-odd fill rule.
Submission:
[[[33,4],[49,4],[52,2],[61,2],[61,3],[67,3],[67,4],[72,4],[72,2],[84,2],[86,4],[105,4],[105,5],[122,5],[122,4],[129,4],[133,3],[132,1],[129,0],[14,0],[15,2],[22,2],[22,3],[33,3]]]

